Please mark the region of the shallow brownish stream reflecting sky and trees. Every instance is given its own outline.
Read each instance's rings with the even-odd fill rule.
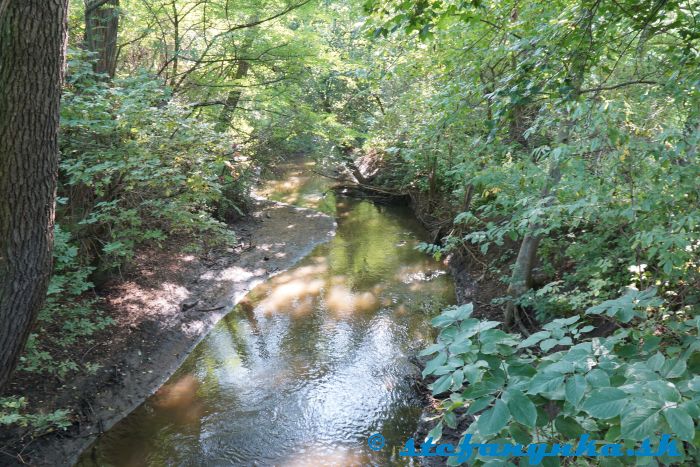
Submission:
[[[258,193],[335,216],[336,236],[255,288],[77,465],[412,465],[398,456],[422,408],[409,356],[452,280],[414,249],[427,234],[408,208],[336,196],[312,169],[278,167]]]

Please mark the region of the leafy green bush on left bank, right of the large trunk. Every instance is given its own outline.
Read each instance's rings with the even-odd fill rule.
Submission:
[[[221,241],[231,233],[215,218],[245,178],[228,175],[232,149],[213,125],[191,117],[156,78],[107,83],[72,52],[61,109],[61,222],[101,267],[124,264],[134,248],[171,234]]]

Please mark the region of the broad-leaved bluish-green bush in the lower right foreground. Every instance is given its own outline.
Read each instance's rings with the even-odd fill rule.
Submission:
[[[433,394],[447,395],[430,433],[434,441],[444,425],[457,426],[455,411],[466,409],[477,417],[465,432],[475,442],[560,443],[588,433],[633,447],[670,434],[682,441],[683,457],[660,462],[700,462],[699,317],[667,313],[654,290],[630,290],[586,311],[618,323],[608,337],[588,336],[594,327],[578,315],[523,339],[471,314],[471,304],[445,310],[433,320],[440,330],[436,343],[422,352],[434,355],[423,371],[437,377]],[[634,327],[623,325],[632,320]],[[478,456],[475,465],[489,460]],[[559,459],[546,462],[558,465]]]

